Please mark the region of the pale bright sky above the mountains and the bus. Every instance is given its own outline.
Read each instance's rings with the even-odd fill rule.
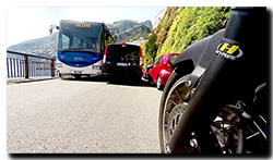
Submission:
[[[7,7],[7,47],[49,35],[51,24],[61,20],[112,23],[144,22],[165,7]]]

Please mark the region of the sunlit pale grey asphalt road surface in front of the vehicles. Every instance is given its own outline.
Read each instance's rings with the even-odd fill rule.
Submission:
[[[102,77],[7,85],[7,152],[159,152],[161,95]]]

